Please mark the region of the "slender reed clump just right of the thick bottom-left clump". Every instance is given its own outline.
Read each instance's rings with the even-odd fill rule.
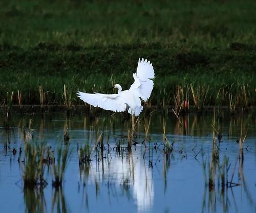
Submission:
[[[70,154],[71,152],[69,150],[69,145],[63,145],[57,148],[57,156],[56,156],[57,160],[55,160],[55,162],[52,164],[53,187],[61,186]]]

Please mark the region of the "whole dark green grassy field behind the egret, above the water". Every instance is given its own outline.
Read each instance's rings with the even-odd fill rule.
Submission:
[[[63,104],[64,84],[71,104],[77,90],[128,89],[139,57],[155,68],[153,105],[174,105],[177,86],[193,105],[190,85],[204,105],[256,103],[253,0],[4,0],[0,19],[1,104],[18,90],[22,104]]]

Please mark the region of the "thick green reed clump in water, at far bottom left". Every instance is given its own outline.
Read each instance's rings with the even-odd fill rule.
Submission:
[[[45,145],[25,144],[25,167],[23,173],[24,187],[45,187],[47,185],[44,179],[45,164]]]

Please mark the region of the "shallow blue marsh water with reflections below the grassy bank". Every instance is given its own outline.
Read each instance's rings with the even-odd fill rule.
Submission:
[[[30,119],[30,143],[45,141],[52,150],[59,144],[65,146],[63,135],[68,127],[72,154],[61,188],[52,187],[51,165],[46,168],[48,185],[44,189],[23,187],[24,163],[18,163],[17,158],[19,147],[24,148],[24,129]],[[9,121],[13,127],[5,129],[5,118],[1,117],[1,212],[255,212],[255,117],[216,113],[215,127],[222,138],[214,187],[207,185],[212,160],[212,113],[189,114],[178,122],[172,113],[165,115],[163,121],[162,113],[155,112],[148,141],[141,144],[145,138],[144,124],[148,122],[141,119],[133,138],[139,144],[132,146],[131,151],[125,148],[131,121],[122,124],[123,119],[118,114],[101,114],[96,119],[84,114],[13,114]],[[165,136],[173,144],[169,155],[163,150],[165,122]],[[241,129],[247,132],[243,161],[236,143]],[[102,132],[104,157],[100,158],[94,150],[90,163],[79,167],[78,148],[88,142],[93,148]],[[120,152],[116,148],[119,142]],[[13,148],[17,150],[15,155]],[[234,187],[221,187],[220,171],[226,157],[230,163],[228,180],[239,184]]]

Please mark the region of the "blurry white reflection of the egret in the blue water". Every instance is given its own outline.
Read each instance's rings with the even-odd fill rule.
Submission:
[[[111,187],[121,185],[129,199],[133,196],[138,212],[147,211],[152,207],[154,201],[152,168],[148,167],[142,156],[136,157],[128,152],[125,157],[113,156],[112,159],[104,159],[103,163],[94,162],[92,161],[90,167],[87,167],[90,170],[87,170],[86,174],[84,171],[80,172],[80,178],[84,178],[86,182],[84,185],[95,183],[106,183]],[[97,190],[97,193],[99,192]]]

